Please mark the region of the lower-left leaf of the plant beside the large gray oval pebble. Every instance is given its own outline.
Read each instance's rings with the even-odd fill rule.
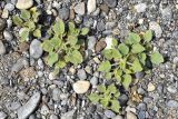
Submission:
[[[58,61],[58,53],[49,52],[49,56],[48,56],[48,60],[47,60],[47,61],[48,61],[48,65],[49,65],[50,67],[52,67],[53,63]]]

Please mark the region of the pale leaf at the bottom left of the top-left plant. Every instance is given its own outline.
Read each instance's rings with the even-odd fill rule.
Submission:
[[[19,33],[21,41],[28,41],[29,40],[29,29],[22,28],[22,31]]]

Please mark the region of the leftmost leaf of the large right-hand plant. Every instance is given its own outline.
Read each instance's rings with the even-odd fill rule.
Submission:
[[[98,70],[102,71],[102,72],[109,72],[110,69],[111,69],[111,65],[110,65],[109,61],[101,62],[100,66],[99,66],[99,68],[98,68]]]

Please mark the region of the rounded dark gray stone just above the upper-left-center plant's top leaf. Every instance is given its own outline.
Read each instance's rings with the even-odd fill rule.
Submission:
[[[68,8],[61,8],[58,10],[59,18],[67,20],[69,18],[69,9]]]

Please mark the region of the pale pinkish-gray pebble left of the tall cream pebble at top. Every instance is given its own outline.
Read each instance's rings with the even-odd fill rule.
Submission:
[[[75,7],[75,12],[80,14],[80,16],[83,16],[86,13],[86,6],[85,6],[85,2],[80,2],[78,3],[76,7]]]

